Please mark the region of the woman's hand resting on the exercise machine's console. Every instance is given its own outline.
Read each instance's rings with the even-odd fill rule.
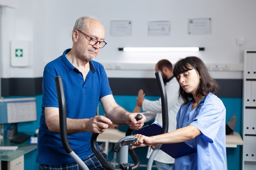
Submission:
[[[144,146],[150,146],[150,147],[154,147],[155,143],[153,140],[153,137],[147,137],[141,134],[136,134],[135,137],[137,138],[137,141],[135,142],[135,144],[132,146],[131,149],[137,148],[137,147],[144,147]]]

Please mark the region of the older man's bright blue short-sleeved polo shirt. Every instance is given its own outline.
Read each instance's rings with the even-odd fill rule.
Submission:
[[[45,124],[45,107],[58,108],[55,77],[61,76],[67,105],[67,118],[85,119],[96,115],[99,99],[112,95],[108,77],[103,66],[90,61],[90,71],[83,81],[83,74],[66,58],[65,54],[49,62],[43,73],[43,104],[38,133],[38,155],[36,162],[46,165],[61,165],[74,160],[65,152],[60,135],[49,131]],[[85,159],[92,154],[90,146],[91,132],[79,132],[68,135],[74,152]]]

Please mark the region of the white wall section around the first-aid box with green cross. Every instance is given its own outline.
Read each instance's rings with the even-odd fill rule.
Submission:
[[[1,10],[1,77],[34,77],[38,69],[34,65],[37,60],[34,53],[30,57],[30,66],[11,67],[11,41],[29,40],[33,41],[32,0],[16,0],[13,6],[4,6]],[[34,44],[32,44],[33,49]]]

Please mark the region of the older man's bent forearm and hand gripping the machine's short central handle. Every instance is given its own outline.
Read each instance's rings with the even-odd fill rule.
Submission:
[[[119,106],[113,95],[106,95],[100,99],[106,116],[115,124],[128,124],[132,129],[139,129],[143,126],[146,117],[142,114],[142,119],[137,121],[135,119],[138,113],[130,113]]]

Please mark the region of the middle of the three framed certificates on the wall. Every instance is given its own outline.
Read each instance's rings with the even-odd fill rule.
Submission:
[[[166,36],[170,35],[170,22],[169,21],[151,21],[148,22],[148,35]]]

